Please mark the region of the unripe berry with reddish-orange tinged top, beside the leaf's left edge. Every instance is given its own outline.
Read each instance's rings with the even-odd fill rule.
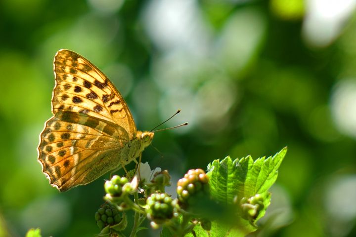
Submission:
[[[190,169],[178,180],[177,194],[181,203],[188,203],[191,197],[209,194],[209,178],[202,169]]]

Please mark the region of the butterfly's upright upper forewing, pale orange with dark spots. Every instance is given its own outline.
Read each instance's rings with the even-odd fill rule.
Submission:
[[[73,111],[114,122],[135,134],[134,119],[110,80],[79,54],[62,49],[54,58],[52,112]]]

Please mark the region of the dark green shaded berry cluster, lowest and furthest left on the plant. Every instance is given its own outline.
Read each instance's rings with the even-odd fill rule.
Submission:
[[[106,226],[119,224],[122,217],[119,211],[114,206],[103,205],[95,212],[96,225],[100,230]]]

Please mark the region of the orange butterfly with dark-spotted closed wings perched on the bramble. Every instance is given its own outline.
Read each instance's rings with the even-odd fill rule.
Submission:
[[[88,59],[67,49],[54,56],[53,116],[40,134],[38,160],[60,192],[136,161],[153,132],[137,131],[113,83]]]

